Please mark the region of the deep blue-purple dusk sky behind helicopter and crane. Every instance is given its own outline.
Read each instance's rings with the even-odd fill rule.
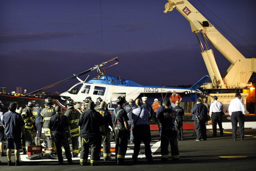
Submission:
[[[29,93],[116,56],[119,64],[106,75],[143,85],[194,84],[208,75],[201,49],[189,21],[176,9],[163,13],[167,2],[102,0],[101,28],[100,0],[0,0],[0,87]],[[256,0],[189,2],[246,58],[256,56]],[[229,61],[208,44],[224,74]]]

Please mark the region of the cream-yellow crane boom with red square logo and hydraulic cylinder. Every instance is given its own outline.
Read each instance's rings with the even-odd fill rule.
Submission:
[[[176,8],[189,21],[192,32],[197,35],[202,49],[201,54],[212,83],[216,79],[219,88],[244,88],[250,86],[251,84],[248,84],[248,81],[252,73],[256,72],[256,59],[245,58],[188,0],[168,1],[169,3],[166,3],[164,12],[166,13]],[[204,50],[198,33],[202,34],[207,50]],[[222,75],[224,78],[222,78],[218,70],[212,49],[208,48],[205,38],[231,63],[226,73]]]

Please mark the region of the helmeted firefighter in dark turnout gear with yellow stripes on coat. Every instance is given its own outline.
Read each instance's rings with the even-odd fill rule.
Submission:
[[[70,126],[70,133],[71,133],[71,142],[72,142],[72,152],[73,157],[78,157],[79,153],[79,128],[77,123],[79,122],[80,114],[79,111],[77,111],[74,108],[74,101],[72,99],[67,100],[67,110],[65,112],[65,115],[70,120],[71,126]]]

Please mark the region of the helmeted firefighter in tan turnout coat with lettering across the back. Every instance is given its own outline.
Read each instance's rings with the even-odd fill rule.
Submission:
[[[43,130],[44,135],[46,135],[47,138],[47,146],[48,148],[54,147],[54,142],[50,138],[50,129],[48,128],[49,121],[53,115],[56,114],[55,107],[53,107],[53,101],[52,98],[47,97],[45,99],[45,108],[42,110],[41,115],[44,117],[43,120]]]

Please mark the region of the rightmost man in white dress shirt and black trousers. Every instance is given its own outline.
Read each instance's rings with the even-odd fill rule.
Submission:
[[[241,94],[236,93],[236,98],[230,101],[230,105],[228,107],[229,115],[231,116],[232,123],[232,139],[236,141],[236,130],[237,130],[237,122],[239,122],[239,130],[240,130],[240,139],[244,139],[244,115],[246,113],[244,107],[244,101],[241,100]]]

